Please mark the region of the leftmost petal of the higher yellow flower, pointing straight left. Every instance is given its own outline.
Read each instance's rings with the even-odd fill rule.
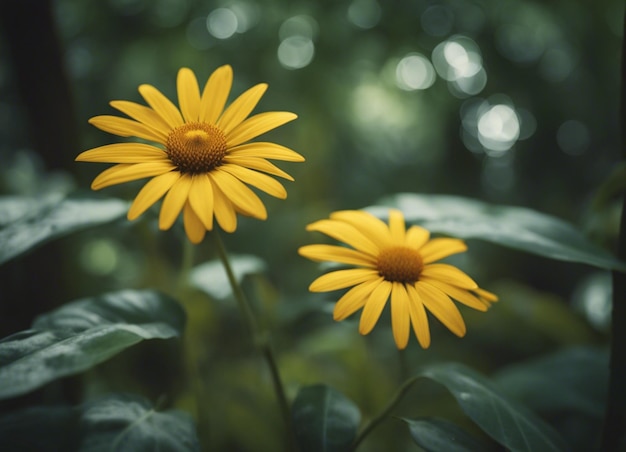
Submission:
[[[78,162],[101,163],[141,163],[149,161],[169,161],[163,149],[143,143],[107,144],[82,152],[76,157]]]

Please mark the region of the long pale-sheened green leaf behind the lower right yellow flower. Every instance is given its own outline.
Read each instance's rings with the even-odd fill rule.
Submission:
[[[400,209],[407,222],[459,238],[481,239],[551,259],[626,271],[621,262],[558,218],[523,207],[497,206],[469,198],[400,193],[382,204]],[[368,211],[386,217],[388,207]]]

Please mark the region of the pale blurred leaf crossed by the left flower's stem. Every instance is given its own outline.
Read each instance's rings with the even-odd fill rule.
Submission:
[[[247,275],[262,273],[266,269],[265,261],[257,256],[231,254],[229,259],[239,284]],[[232,296],[224,265],[219,259],[195,267],[191,271],[190,282],[194,287],[217,300],[225,300]]]

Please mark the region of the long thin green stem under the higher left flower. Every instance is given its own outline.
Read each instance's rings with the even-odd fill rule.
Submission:
[[[220,260],[224,265],[224,270],[226,271],[228,282],[233,289],[233,294],[235,295],[235,299],[237,300],[239,309],[246,319],[246,324],[248,326],[248,329],[250,330],[254,345],[259,349],[261,355],[263,356],[269,367],[272,384],[274,386],[274,392],[276,393],[276,398],[278,399],[283,422],[285,423],[285,428],[287,431],[287,442],[289,446],[288,449],[295,450],[293,435],[294,430],[291,421],[291,410],[289,408],[289,402],[287,401],[287,396],[285,394],[285,387],[283,385],[280,372],[278,370],[278,364],[269,338],[269,333],[261,331],[257,324],[256,317],[254,316],[254,312],[252,311],[252,307],[250,306],[250,303],[248,302],[245,293],[241,289],[241,286],[239,285],[237,278],[235,277],[235,272],[230,265],[228,253],[226,252],[226,248],[224,247],[224,243],[220,234],[217,230],[214,230],[211,235],[213,236],[213,240],[215,242],[217,254],[219,255]]]

